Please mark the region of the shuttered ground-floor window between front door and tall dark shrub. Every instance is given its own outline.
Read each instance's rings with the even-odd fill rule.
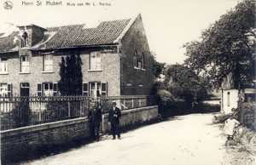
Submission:
[[[38,96],[55,96],[58,93],[57,83],[38,83]]]

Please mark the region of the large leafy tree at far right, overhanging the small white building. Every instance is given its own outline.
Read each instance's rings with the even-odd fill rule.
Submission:
[[[202,31],[201,41],[184,45],[185,64],[200,72],[212,87],[219,87],[222,78],[232,73],[235,88],[244,88],[255,78],[254,31],[255,3],[238,3]]]

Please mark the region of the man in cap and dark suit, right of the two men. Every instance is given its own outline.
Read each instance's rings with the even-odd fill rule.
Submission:
[[[112,102],[112,107],[110,108],[108,115],[108,123],[111,124],[111,134],[113,135],[113,139],[115,139],[115,135],[118,135],[118,139],[121,139],[120,129],[119,129],[119,118],[121,117],[121,111],[118,107],[116,107],[116,101]]]

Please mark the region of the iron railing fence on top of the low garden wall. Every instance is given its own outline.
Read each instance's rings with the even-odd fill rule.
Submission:
[[[96,100],[108,113],[113,100],[121,110],[156,105],[154,96],[10,96],[0,97],[1,130],[20,128],[76,117],[87,117],[91,101]]]

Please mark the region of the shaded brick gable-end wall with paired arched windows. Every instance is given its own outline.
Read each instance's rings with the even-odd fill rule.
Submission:
[[[144,54],[144,70],[134,67],[134,54]],[[121,40],[121,95],[150,95],[154,83],[152,58],[141,16]]]

